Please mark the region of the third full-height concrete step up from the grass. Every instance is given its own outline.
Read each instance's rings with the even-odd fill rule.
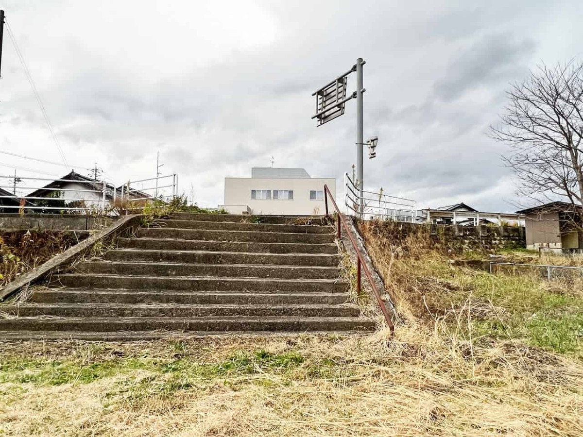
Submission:
[[[38,304],[224,304],[224,305],[339,305],[346,302],[347,293],[266,293],[224,291],[122,290],[65,288],[39,290],[32,302]]]

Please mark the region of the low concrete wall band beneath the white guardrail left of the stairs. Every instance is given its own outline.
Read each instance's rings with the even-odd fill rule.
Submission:
[[[0,214],[0,231],[17,230],[90,230],[95,219],[90,216],[60,214]]]

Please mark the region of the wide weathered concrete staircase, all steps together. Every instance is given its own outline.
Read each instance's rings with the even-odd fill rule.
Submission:
[[[332,227],[244,218],[179,213],[140,228],[103,259],[53,277],[30,302],[0,306],[0,338],[374,329],[345,303]]]

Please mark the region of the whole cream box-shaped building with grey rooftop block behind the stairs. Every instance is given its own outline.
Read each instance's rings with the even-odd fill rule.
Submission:
[[[324,184],[336,193],[336,179],[312,178],[303,168],[253,167],[250,178],[224,178],[219,207],[231,214],[323,215]]]

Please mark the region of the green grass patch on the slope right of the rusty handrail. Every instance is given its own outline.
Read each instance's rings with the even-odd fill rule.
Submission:
[[[581,290],[551,287],[533,272],[490,274],[436,257],[415,260],[408,272],[423,281],[420,294],[435,316],[470,309],[472,337],[521,340],[583,359]],[[459,327],[469,331],[462,317]]]

